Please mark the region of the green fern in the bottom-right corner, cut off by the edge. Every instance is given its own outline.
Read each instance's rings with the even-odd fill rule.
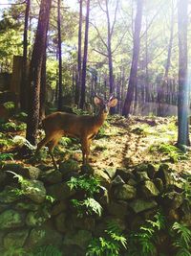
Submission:
[[[175,222],[172,226],[176,256],[191,256],[191,230],[185,224]]]

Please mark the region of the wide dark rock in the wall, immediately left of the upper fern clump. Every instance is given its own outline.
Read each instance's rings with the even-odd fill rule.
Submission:
[[[75,191],[71,190],[67,183],[62,182],[47,187],[47,194],[57,200],[65,200],[73,197]]]

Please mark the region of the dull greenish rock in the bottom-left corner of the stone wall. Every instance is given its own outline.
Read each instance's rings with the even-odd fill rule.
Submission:
[[[5,249],[21,248],[24,246],[29,235],[28,229],[15,230],[8,233],[3,240]]]

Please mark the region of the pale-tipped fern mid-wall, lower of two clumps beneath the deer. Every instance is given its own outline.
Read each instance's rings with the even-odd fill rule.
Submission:
[[[96,214],[101,216],[102,207],[94,198],[86,198],[83,200],[72,199],[74,207],[77,209],[77,216],[82,218],[84,215]]]

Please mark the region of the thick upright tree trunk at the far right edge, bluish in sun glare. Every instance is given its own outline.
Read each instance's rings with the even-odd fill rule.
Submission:
[[[183,1],[178,0],[178,30],[179,30],[178,145],[189,145],[187,27],[188,27],[188,0],[183,0]]]

